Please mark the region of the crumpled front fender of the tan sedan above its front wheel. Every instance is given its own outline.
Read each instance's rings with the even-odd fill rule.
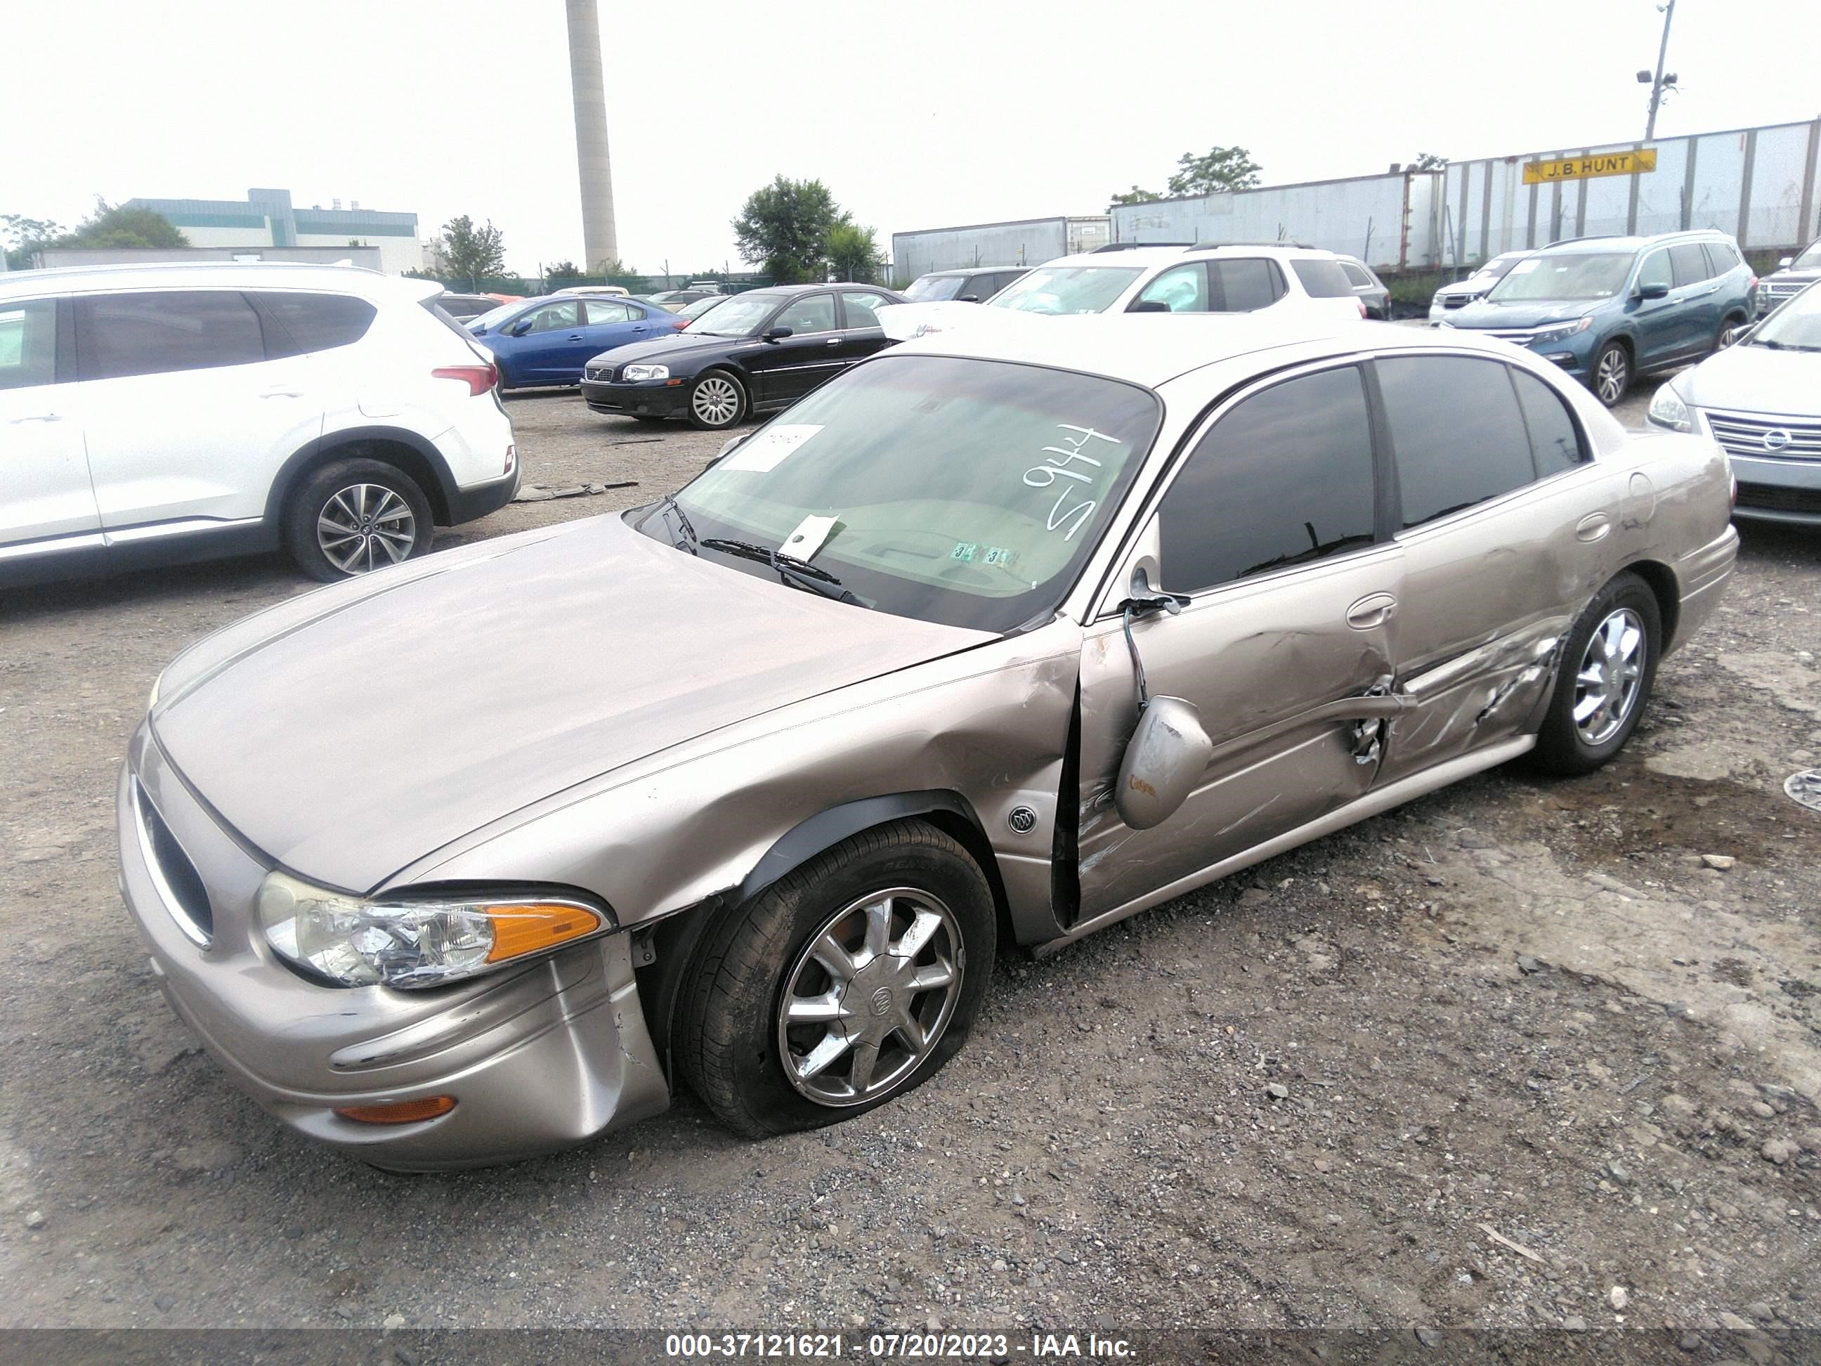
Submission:
[[[991,845],[1020,942],[1051,911],[1056,796],[1080,628],[1045,627],[810,698],[555,794],[392,880],[535,880],[603,896],[628,927],[738,889],[821,812],[952,792]],[[1011,812],[1036,823],[1012,831]]]

